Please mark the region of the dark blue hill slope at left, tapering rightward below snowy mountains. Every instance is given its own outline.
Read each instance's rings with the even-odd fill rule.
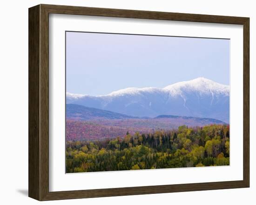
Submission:
[[[103,109],[88,108],[82,105],[66,104],[66,117],[74,120],[97,120],[97,119],[130,119],[138,118]]]

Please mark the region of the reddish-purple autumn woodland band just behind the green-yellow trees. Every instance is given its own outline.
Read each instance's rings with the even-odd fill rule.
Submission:
[[[102,140],[106,138],[124,137],[127,132],[134,135],[154,133],[157,130],[171,130],[182,125],[188,127],[203,127],[211,123],[208,120],[196,122],[194,119],[158,118],[158,119],[113,119],[113,120],[66,120],[66,139],[73,140]]]

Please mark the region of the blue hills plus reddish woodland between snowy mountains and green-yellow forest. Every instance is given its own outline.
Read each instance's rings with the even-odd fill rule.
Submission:
[[[203,127],[210,124],[225,124],[211,118],[159,115],[155,118],[136,118],[102,109],[67,104],[67,140],[101,140],[124,137],[130,134],[154,133],[156,130],[171,130],[179,126]]]

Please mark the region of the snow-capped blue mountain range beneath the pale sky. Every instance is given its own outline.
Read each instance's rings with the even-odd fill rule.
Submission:
[[[104,96],[66,94],[67,103],[132,116],[209,117],[229,123],[229,85],[199,77],[159,88],[126,88]]]

